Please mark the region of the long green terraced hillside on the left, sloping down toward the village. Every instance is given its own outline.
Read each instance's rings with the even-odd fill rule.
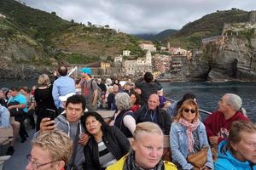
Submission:
[[[84,26],[62,20],[55,12],[49,14],[14,0],[1,0],[0,14],[7,17],[4,21],[6,23],[0,22],[0,28],[9,27],[0,34],[8,37],[12,31],[17,31],[31,37],[43,45],[49,56],[60,62],[85,64],[100,59],[113,59],[124,49],[130,49],[133,54],[142,54],[136,37],[110,28]]]

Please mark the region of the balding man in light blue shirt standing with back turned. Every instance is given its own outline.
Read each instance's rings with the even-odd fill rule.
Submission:
[[[60,96],[64,96],[69,93],[75,93],[75,81],[73,78],[67,76],[67,67],[61,65],[58,69],[58,72],[61,77],[59,77],[53,83],[52,89],[52,97],[55,101],[55,106],[59,110],[59,112],[63,111],[63,106],[61,105],[61,100],[59,99]]]

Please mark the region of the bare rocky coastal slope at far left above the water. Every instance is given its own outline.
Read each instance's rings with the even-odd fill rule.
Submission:
[[[37,42],[20,34],[0,39],[0,60],[1,79],[36,78],[56,65]]]

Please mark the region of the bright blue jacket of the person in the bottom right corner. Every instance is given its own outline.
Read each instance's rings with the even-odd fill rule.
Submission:
[[[214,164],[214,169],[217,170],[253,170],[256,169],[256,165],[252,167],[249,161],[237,160],[230,150],[227,150],[227,141],[222,141],[218,144],[218,160]]]

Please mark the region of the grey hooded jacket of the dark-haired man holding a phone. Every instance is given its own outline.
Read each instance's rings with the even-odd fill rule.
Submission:
[[[79,125],[80,128],[80,134],[84,132],[84,127],[81,125],[81,123],[78,122],[67,122],[66,114],[61,114],[55,118],[55,126],[58,130],[61,130],[64,133],[67,133],[67,135],[73,140],[75,140],[76,133],[77,133],[77,127]],[[85,158],[84,158],[84,145],[79,144],[77,148],[77,153],[75,157],[75,165],[79,169],[83,169]]]

